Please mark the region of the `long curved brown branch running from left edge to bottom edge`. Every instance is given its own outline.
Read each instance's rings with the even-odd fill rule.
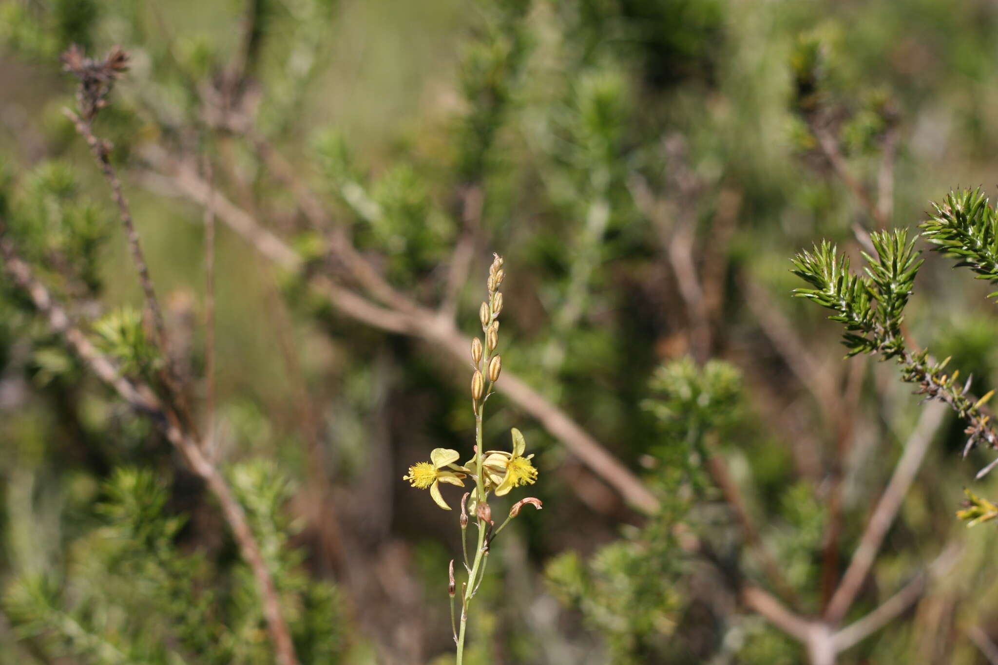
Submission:
[[[0,230],[2,230],[2,221],[0,221]],[[277,660],[280,665],[296,665],[297,657],[294,654],[290,632],[281,614],[276,587],[260,553],[256,537],[250,529],[246,512],[218,468],[205,456],[201,442],[190,431],[184,429],[177,416],[163,406],[148,384],[129,380],[121,375],[115,364],[102,355],[86,335],[73,324],[65,308],[52,298],[45,285],[35,278],[31,267],[20,258],[13,243],[2,236],[0,236],[0,256],[4,259],[4,271],[30,296],[35,308],[48,322],[49,328],[66,341],[66,344],[101,381],[113,388],[134,409],[153,418],[164,436],[187,461],[191,470],[205,481],[222,506],[223,514],[239,544],[240,551],[250,564],[263,603],[263,615]]]

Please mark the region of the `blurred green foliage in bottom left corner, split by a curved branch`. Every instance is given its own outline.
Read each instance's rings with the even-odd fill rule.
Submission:
[[[294,622],[302,663],[336,663],[342,652],[341,599],[301,572],[279,508],[287,484],[260,465],[233,473],[253,530]],[[186,518],[171,512],[166,485],[149,470],[119,469],[97,506],[103,524],[71,547],[68,577],[26,574],[2,607],[18,633],[47,654],[83,662],[174,665],[273,662],[260,640],[259,601],[249,572],[184,551]]]

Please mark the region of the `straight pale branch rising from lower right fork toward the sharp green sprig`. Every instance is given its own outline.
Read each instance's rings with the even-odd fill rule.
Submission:
[[[849,567],[825,609],[825,619],[830,623],[841,621],[852,606],[852,601],[866,579],[870,566],[873,565],[887,529],[893,523],[897,510],[901,507],[901,501],[914,482],[922,466],[922,460],[925,459],[925,453],[945,420],[946,413],[946,406],[942,404],[927,405],[922,411],[914,432],[904,446],[904,453],[897,461],[887,488],[870,514]]]

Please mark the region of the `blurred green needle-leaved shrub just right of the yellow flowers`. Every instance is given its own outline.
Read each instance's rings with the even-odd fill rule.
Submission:
[[[625,529],[620,541],[588,561],[568,551],[546,568],[552,592],[606,637],[612,663],[689,662],[690,640],[717,640],[718,627],[697,618],[689,593],[696,567],[681,538],[719,535],[705,501],[718,494],[705,470],[708,446],[746,425],[742,376],[729,363],[698,367],[680,358],[659,367],[649,387],[642,406],[660,426],[662,468],[655,482],[661,511],[643,528]]]

